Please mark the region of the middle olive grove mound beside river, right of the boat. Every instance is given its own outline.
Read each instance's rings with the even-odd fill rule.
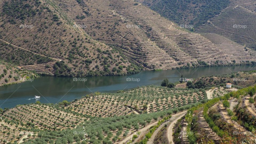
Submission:
[[[67,106],[67,109],[93,116],[112,117],[131,113],[152,113],[168,109],[177,109],[178,111],[184,109],[182,106],[187,106],[187,109],[193,103],[204,99],[207,99],[207,96],[203,89],[175,90],[158,86],[143,86],[117,94],[88,96],[73,102],[71,107]]]

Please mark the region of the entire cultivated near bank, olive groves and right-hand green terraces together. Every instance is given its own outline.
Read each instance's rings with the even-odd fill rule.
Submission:
[[[239,95],[255,95],[249,92],[252,89],[255,87],[229,94],[220,89],[216,97],[211,92],[208,96],[209,91],[203,89],[145,86],[114,94],[86,95],[71,103],[18,105],[12,109],[0,109],[0,135],[4,138],[1,142],[6,139],[17,143],[161,143],[175,138],[175,142],[179,143],[178,136],[185,143],[191,140],[218,143],[220,139],[223,140],[223,135],[226,136],[225,140],[237,138],[235,133],[228,134],[228,129],[237,133],[253,130],[253,123],[246,126],[244,122],[247,112],[242,115],[244,128],[240,128],[238,119],[235,119],[239,115],[236,113],[239,108],[234,107],[232,113],[229,110],[229,106],[239,104]],[[165,109],[166,102],[173,105],[176,101],[164,101],[172,96],[177,101],[185,99],[185,102]],[[191,97],[194,97],[193,104],[189,102]],[[155,101],[159,102],[157,107],[162,108],[155,109],[153,106],[153,110],[147,111],[144,106]],[[179,120],[184,115],[185,119]],[[180,128],[174,128],[177,121]],[[195,139],[191,139],[193,137]]]

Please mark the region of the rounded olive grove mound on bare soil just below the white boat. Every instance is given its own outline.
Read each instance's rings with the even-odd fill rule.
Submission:
[[[6,111],[2,118],[13,125],[21,125],[28,130],[63,130],[74,128],[82,119],[79,116],[56,110],[47,105],[30,104]]]

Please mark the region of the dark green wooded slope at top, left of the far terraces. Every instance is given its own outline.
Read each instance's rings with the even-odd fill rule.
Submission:
[[[179,25],[204,24],[229,5],[229,0],[137,0]]]

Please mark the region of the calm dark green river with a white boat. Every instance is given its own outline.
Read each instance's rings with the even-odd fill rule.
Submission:
[[[0,107],[2,109],[4,107],[11,108],[18,104],[34,103],[35,101],[41,103],[72,101],[96,91],[113,93],[138,86],[160,85],[165,78],[168,78],[170,82],[177,82],[181,74],[184,78],[198,78],[203,75],[230,74],[242,70],[256,70],[256,67],[243,65],[142,71],[134,75],[86,77],[77,79],[77,81],[67,77],[41,76],[32,82],[27,81],[0,87]],[[35,95],[41,98],[33,99]]]

